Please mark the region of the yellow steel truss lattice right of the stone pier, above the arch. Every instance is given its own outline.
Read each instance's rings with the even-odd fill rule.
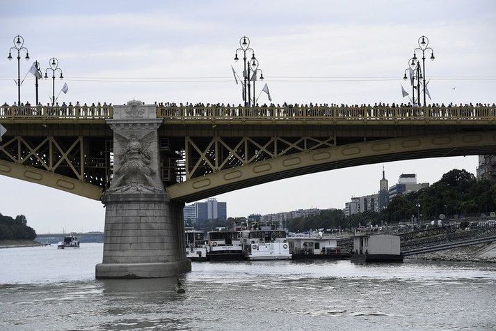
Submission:
[[[186,180],[269,160],[281,155],[335,146],[335,137],[185,137]]]

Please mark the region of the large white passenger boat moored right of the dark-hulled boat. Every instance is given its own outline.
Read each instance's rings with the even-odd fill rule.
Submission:
[[[290,260],[286,231],[261,226],[259,230],[241,231],[243,254],[248,260]]]

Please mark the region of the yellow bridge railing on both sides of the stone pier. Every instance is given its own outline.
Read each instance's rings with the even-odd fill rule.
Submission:
[[[0,106],[0,118],[111,118],[111,105]],[[490,107],[225,107],[157,106],[157,117],[179,121],[494,121]]]

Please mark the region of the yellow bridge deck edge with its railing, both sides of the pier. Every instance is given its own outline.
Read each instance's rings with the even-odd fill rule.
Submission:
[[[112,106],[0,107],[2,123],[104,123]],[[350,124],[488,124],[495,123],[492,107],[193,107],[157,106],[157,117],[165,124],[229,123],[287,125]]]

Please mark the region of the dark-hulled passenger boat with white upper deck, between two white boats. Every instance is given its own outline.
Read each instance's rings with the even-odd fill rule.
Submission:
[[[237,231],[210,231],[207,233],[211,261],[243,260],[243,249]]]

